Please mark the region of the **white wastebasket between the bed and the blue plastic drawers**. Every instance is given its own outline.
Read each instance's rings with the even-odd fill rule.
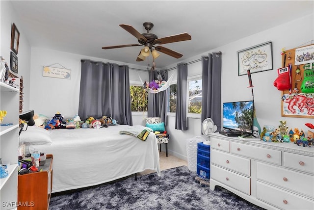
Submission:
[[[190,171],[197,168],[197,143],[206,141],[202,136],[186,139],[187,167]]]

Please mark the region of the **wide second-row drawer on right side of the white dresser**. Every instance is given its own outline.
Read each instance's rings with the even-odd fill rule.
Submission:
[[[314,177],[257,162],[257,179],[314,198]]]

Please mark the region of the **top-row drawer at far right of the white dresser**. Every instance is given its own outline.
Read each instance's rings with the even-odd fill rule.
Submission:
[[[284,166],[314,174],[314,157],[284,152]]]

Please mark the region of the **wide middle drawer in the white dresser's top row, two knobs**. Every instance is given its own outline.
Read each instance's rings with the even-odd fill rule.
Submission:
[[[281,151],[231,142],[231,153],[281,165]]]

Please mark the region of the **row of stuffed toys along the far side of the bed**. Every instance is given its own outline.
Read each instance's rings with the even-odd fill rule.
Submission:
[[[116,120],[107,116],[103,116],[99,119],[89,117],[85,121],[82,121],[77,114],[71,119],[64,120],[64,117],[62,116],[62,114],[60,114],[60,112],[56,112],[56,114],[52,118],[48,118],[44,115],[35,114],[34,121],[37,127],[41,127],[46,130],[79,128],[100,129],[108,128],[111,125],[117,125]]]

